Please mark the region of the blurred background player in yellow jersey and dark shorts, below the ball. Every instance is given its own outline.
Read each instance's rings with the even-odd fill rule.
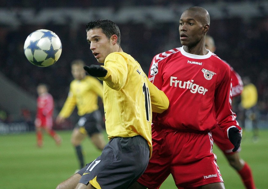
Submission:
[[[102,133],[102,114],[98,106],[98,97],[103,100],[103,85],[98,79],[86,75],[84,66],[83,60],[71,63],[74,80],[70,83],[68,97],[56,118],[57,124],[64,122],[77,107],[80,119],[73,129],[71,142],[76,149],[80,169],[85,165],[81,143],[87,135],[99,150],[103,150],[106,145]]]

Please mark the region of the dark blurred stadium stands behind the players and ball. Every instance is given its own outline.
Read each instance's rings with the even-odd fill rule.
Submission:
[[[8,137],[10,133],[28,133],[33,130],[38,83],[49,85],[49,92],[55,100],[56,116],[73,79],[71,61],[79,58],[87,65],[98,64],[86,41],[87,22],[95,19],[115,21],[121,30],[123,51],[138,60],[148,73],[155,54],[181,46],[179,18],[191,6],[202,6],[210,13],[208,34],[215,39],[215,53],[242,77],[249,76],[256,85],[258,127],[267,132],[267,0],[0,0],[0,134]],[[37,29],[52,30],[61,39],[61,57],[50,67],[36,67],[25,58],[24,41]],[[239,118],[239,109],[235,112]],[[74,112],[68,122],[54,125],[54,128],[70,130],[76,120]],[[1,145],[5,145],[2,139]],[[267,144],[264,145],[267,149]],[[267,157],[266,153],[262,156]]]

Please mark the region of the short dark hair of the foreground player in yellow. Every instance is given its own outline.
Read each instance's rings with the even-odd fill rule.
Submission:
[[[120,46],[120,30],[115,22],[106,19],[91,21],[86,25],[86,32],[94,28],[102,29],[108,39],[114,34],[117,35],[117,44]]]

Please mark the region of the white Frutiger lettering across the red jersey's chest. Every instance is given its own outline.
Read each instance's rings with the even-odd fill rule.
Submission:
[[[176,79],[177,79],[177,77],[173,77],[173,76],[170,77],[170,86],[180,87],[183,89],[190,89],[190,92],[193,94],[198,92],[199,94],[205,95],[205,93],[208,91],[208,89],[193,83],[194,80],[180,81],[180,80],[176,80]]]

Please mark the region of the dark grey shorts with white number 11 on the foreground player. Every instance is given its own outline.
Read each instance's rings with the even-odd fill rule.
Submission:
[[[149,145],[140,135],[115,137],[102,154],[81,169],[79,183],[102,189],[128,188],[145,171],[149,162]]]

